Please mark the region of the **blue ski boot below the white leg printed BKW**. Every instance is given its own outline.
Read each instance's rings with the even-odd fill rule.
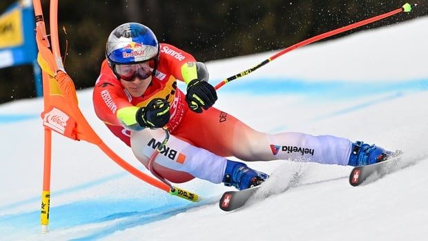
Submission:
[[[239,190],[258,186],[269,177],[266,173],[255,171],[242,162],[227,160],[224,172],[224,186],[235,186]]]

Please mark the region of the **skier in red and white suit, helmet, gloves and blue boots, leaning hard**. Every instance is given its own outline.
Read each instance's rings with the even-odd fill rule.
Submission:
[[[177,79],[187,84],[186,94]],[[155,159],[155,171],[171,182],[193,177],[247,189],[269,175],[242,162],[305,160],[360,166],[386,160],[390,151],[331,135],[267,134],[212,107],[215,88],[206,66],[170,44],[159,44],[140,23],[124,23],[106,43],[106,59],[93,91],[95,113],[130,146],[146,167],[149,157],[171,133]],[[252,110],[254,111],[254,110]]]

